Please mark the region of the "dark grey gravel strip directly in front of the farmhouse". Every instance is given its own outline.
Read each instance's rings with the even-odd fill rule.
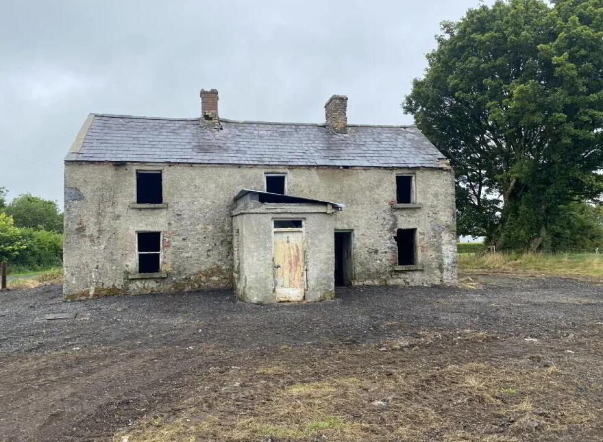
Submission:
[[[61,287],[0,295],[0,354],[138,347],[380,341],[397,321],[408,330],[470,328],[539,336],[603,321],[603,288],[561,278],[482,278],[481,290],[338,288],[334,301],[257,306],[229,291],[62,302]],[[52,313],[76,319],[38,321]],[[89,319],[81,319],[88,317]],[[138,343],[138,344],[137,344]]]

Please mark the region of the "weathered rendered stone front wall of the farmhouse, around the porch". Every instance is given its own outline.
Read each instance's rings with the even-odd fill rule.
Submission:
[[[135,209],[136,170],[163,172],[167,208]],[[447,169],[417,169],[421,208],[392,208],[395,173],[409,169],[76,163],[65,165],[68,299],[232,287],[233,197],[263,190],[264,173],[287,173],[288,194],[345,204],[334,228],[354,230],[355,284],[454,284],[454,182]],[[420,271],[395,271],[397,228],[417,228]],[[167,278],[131,280],[136,231],[162,232]]]

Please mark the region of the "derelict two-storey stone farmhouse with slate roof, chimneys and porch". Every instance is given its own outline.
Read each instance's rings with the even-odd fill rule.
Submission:
[[[454,173],[415,126],[90,114],[65,158],[68,300],[232,288],[456,284]]]

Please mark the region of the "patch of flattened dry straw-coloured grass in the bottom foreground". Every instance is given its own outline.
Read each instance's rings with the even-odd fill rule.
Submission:
[[[354,377],[329,376],[325,370],[321,380],[288,385],[267,384],[269,377],[254,379],[258,372],[242,380],[251,390],[242,397],[253,400],[234,401],[237,395],[231,390],[213,398],[195,397],[183,404],[184,412],[141,421],[116,434],[114,441],[410,442],[435,437],[517,442],[528,440],[526,434],[556,439],[570,426],[596,421],[587,404],[567,395],[563,408],[552,405],[564,389],[575,388],[564,385],[567,380],[558,369],[465,363]],[[254,382],[264,382],[260,391]]]

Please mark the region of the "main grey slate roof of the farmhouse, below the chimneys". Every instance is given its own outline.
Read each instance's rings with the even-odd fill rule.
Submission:
[[[442,167],[444,158],[415,126],[349,125],[347,134],[332,134],[324,124],[221,124],[218,130],[200,127],[199,119],[90,114],[65,160]]]

